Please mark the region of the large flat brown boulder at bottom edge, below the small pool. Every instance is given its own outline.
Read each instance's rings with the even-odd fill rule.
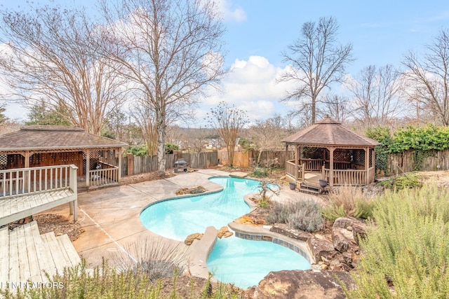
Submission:
[[[354,288],[349,273],[340,271],[279,271],[269,272],[259,285],[253,288],[253,298],[302,298],[340,299],[346,298],[340,281]]]

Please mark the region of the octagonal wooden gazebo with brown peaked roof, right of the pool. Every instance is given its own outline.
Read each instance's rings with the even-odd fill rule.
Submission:
[[[300,188],[319,186],[319,179],[330,187],[363,186],[375,180],[375,146],[380,143],[336,120],[323,118],[282,141],[286,151],[295,147],[295,160],[286,162],[286,174]]]

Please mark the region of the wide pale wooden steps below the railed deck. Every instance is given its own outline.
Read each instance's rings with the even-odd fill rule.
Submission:
[[[40,235],[36,221],[14,230],[0,228],[0,286],[6,282],[46,282],[45,272],[62,273],[65,267],[81,262],[67,235],[54,232]]]

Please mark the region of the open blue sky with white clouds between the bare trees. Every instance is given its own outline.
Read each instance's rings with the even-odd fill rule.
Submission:
[[[0,0],[4,7],[26,7],[26,0]],[[47,0],[35,1],[45,4]],[[55,1],[60,4],[73,1]],[[76,1],[93,6],[93,1]],[[274,83],[285,69],[281,51],[300,36],[304,22],[333,16],[340,30],[338,41],[352,43],[356,61],[347,69],[352,76],[363,67],[393,64],[401,67],[408,50],[422,53],[441,29],[449,28],[449,3],[427,1],[303,1],[220,0],[227,33],[225,64],[233,67],[223,83],[225,92],[211,92],[196,115],[202,118],[220,100],[248,111],[250,120],[265,119],[289,109],[279,99],[287,85]],[[338,92],[335,91],[334,92]],[[8,116],[19,118],[7,107]]]

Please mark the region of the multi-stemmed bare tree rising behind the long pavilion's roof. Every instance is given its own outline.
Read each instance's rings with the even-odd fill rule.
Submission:
[[[123,81],[100,54],[107,47],[86,12],[42,6],[34,13],[0,15],[7,41],[0,72],[13,90],[11,98],[68,111],[61,117],[100,134],[107,111],[124,100]]]

